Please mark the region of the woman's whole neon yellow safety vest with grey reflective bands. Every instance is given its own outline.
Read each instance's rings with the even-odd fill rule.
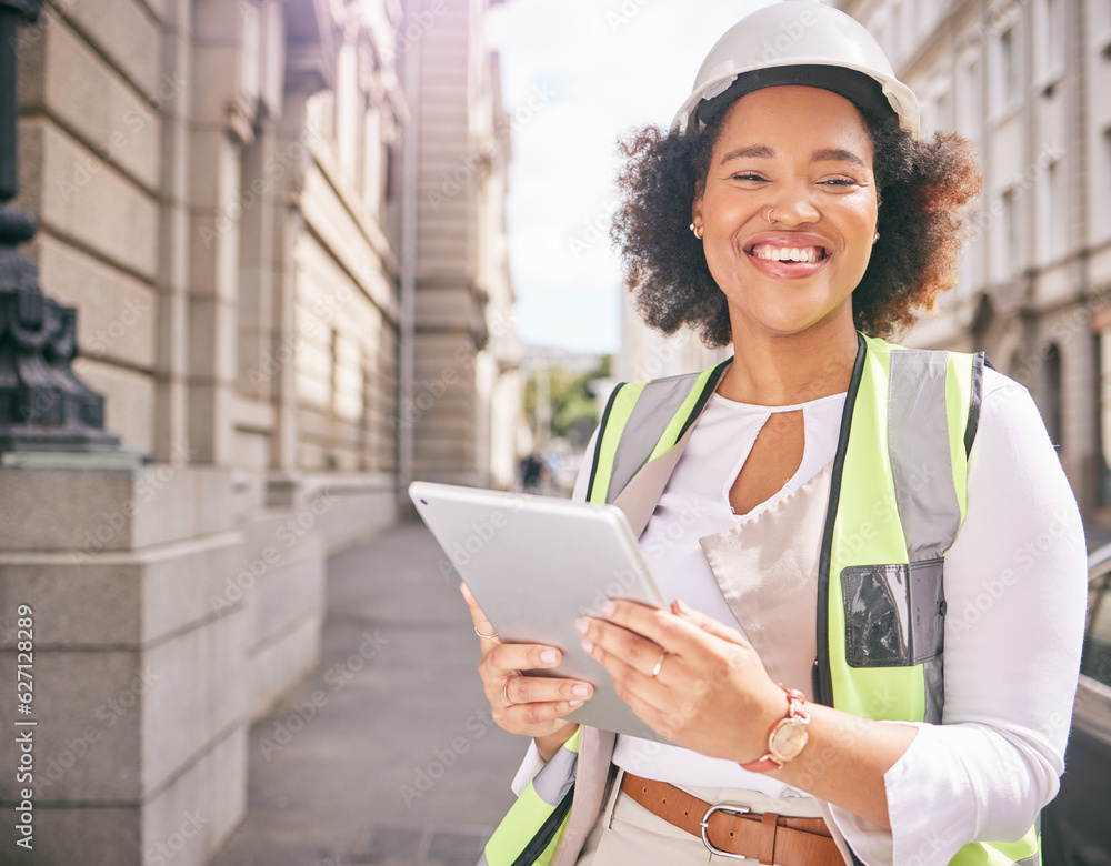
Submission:
[[[612,503],[645,464],[673,449],[729,363],[619,385],[599,429],[588,500]],[[944,554],[964,520],[984,363],[982,353],[909,350],[858,334],[819,558],[812,685],[822,704],[871,719],[941,722]],[[568,748],[577,751],[578,734],[571,743]],[[556,777],[553,772],[541,786]],[[564,784],[573,786],[573,779]],[[534,798],[524,802],[530,792],[532,786],[487,846],[490,866],[547,864],[554,852],[565,814],[544,842],[548,859],[521,856],[534,836],[533,850],[543,840],[538,827],[550,833],[558,813],[548,805],[551,792],[532,792]],[[542,809],[537,800],[546,804]],[[513,844],[491,856],[494,840],[510,836]],[[951,860],[1040,863],[1037,822],[1017,842],[969,844]]]

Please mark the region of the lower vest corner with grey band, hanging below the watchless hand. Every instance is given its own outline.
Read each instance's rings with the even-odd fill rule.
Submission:
[[[476,866],[548,866],[551,863],[571,814],[579,733],[577,729],[560,746],[521,792],[487,842]]]

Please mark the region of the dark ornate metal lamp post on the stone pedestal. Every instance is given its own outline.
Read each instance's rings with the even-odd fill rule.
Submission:
[[[0,0],[0,452],[117,451],[104,399],[74,375],[77,310],[46,298],[39,269],[17,249],[34,216],[10,205],[19,191],[18,29],[42,0]]]

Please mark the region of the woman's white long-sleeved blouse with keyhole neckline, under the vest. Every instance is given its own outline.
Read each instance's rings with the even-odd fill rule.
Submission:
[[[991,370],[983,385],[968,511],[945,556],[943,724],[917,724],[918,736],[884,776],[891,830],[831,807],[869,866],[944,864],[969,842],[1015,839],[1057,794],[1064,768],[1087,603],[1083,527],[1030,394]],[[837,449],[843,404],[844,394],[782,407],[712,396],[641,536],[667,598],[682,597],[740,631],[698,540],[752,517],[820,472]],[[799,409],[805,449],[798,472],[750,514],[733,514],[729,490],[764,422]],[[585,495],[593,447],[574,499]],[[808,796],[735,763],[635,737],[618,738],[613,761],[672,784]],[[541,765],[533,745],[514,791]]]

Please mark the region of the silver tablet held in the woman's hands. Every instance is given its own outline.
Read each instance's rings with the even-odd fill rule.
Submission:
[[[668,742],[618,697],[574,630],[608,598],[665,604],[620,508],[424,481],[409,495],[502,642],[563,652],[559,667],[528,673],[593,684],[593,696],[564,718]]]

